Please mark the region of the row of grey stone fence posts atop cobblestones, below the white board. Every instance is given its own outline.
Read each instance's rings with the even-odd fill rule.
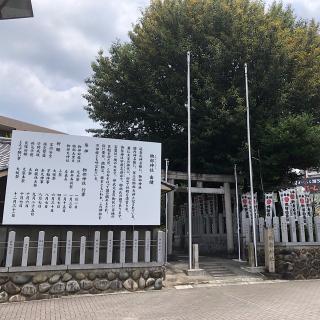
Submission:
[[[31,241],[29,236],[23,241],[15,239],[16,232],[10,231],[5,266],[0,272],[154,267],[162,266],[165,260],[162,231],[157,232],[156,239],[150,231],[134,231],[130,239],[126,231],[117,235],[108,231],[104,240],[101,232],[95,231],[91,241],[86,236],[73,239],[72,231],[67,232],[65,240],[58,236],[45,239],[44,231],[39,232],[37,240]]]

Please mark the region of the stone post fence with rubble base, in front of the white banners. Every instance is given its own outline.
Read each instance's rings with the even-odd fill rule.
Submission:
[[[242,217],[245,243],[253,241],[252,224]],[[259,218],[256,223],[258,262],[264,264],[264,229],[272,228],[275,272],[284,279],[320,278],[320,217]]]

